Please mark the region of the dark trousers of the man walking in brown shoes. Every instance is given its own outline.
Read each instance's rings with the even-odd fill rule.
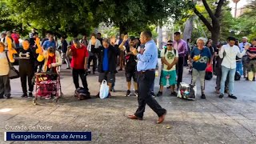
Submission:
[[[158,102],[151,96],[150,87],[154,82],[154,71],[146,71],[145,73],[138,74],[138,109],[135,112],[135,116],[138,118],[143,118],[146,104],[150,106],[152,110],[158,117],[166,113]]]

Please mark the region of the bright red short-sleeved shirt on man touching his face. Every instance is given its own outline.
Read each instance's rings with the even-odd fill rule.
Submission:
[[[89,57],[86,46],[81,46],[79,49],[71,46],[70,49],[72,51],[71,67],[74,69],[84,69],[85,58]]]

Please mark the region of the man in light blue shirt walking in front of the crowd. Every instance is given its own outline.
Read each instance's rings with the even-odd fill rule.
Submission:
[[[150,31],[143,31],[140,35],[142,44],[145,44],[143,54],[138,54],[134,49],[132,52],[138,58],[138,109],[135,114],[128,116],[130,119],[143,119],[146,104],[158,114],[158,122],[162,123],[166,116],[166,110],[150,95],[150,86],[154,82],[154,70],[158,62],[158,47],[152,39]]]

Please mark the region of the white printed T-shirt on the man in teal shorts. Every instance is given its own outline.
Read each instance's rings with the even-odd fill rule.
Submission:
[[[175,58],[178,58],[178,51],[176,51],[176,54],[175,54],[174,50],[162,49],[160,57],[161,58],[163,58],[163,57],[166,58],[166,61],[171,64],[172,62],[174,62]],[[165,71],[176,70],[175,65],[170,70],[167,70],[167,67],[168,66],[166,64],[163,64],[163,69],[162,70],[165,70]]]

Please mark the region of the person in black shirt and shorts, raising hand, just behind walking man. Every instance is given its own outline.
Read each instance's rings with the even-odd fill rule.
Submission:
[[[119,49],[122,49],[124,46],[124,43],[126,43],[128,40],[128,35],[126,34],[123,38],[122,43],[119,45]],[[130,86],[131,86],[131,78],[134,79],[134,89],[135,93],[134,95],[138,97],[138,84],[137,84],[137,62],[136,62],[136,57],[134,54],[131,52],[131,50],[134,50],[135,46],[135,38],[130,37],[129,40],[129,46],[126,47],[127,54],[125,55],[126,59],[126,82],[127,82],[127,91],[126,91],[126,97],[130,96]]]

